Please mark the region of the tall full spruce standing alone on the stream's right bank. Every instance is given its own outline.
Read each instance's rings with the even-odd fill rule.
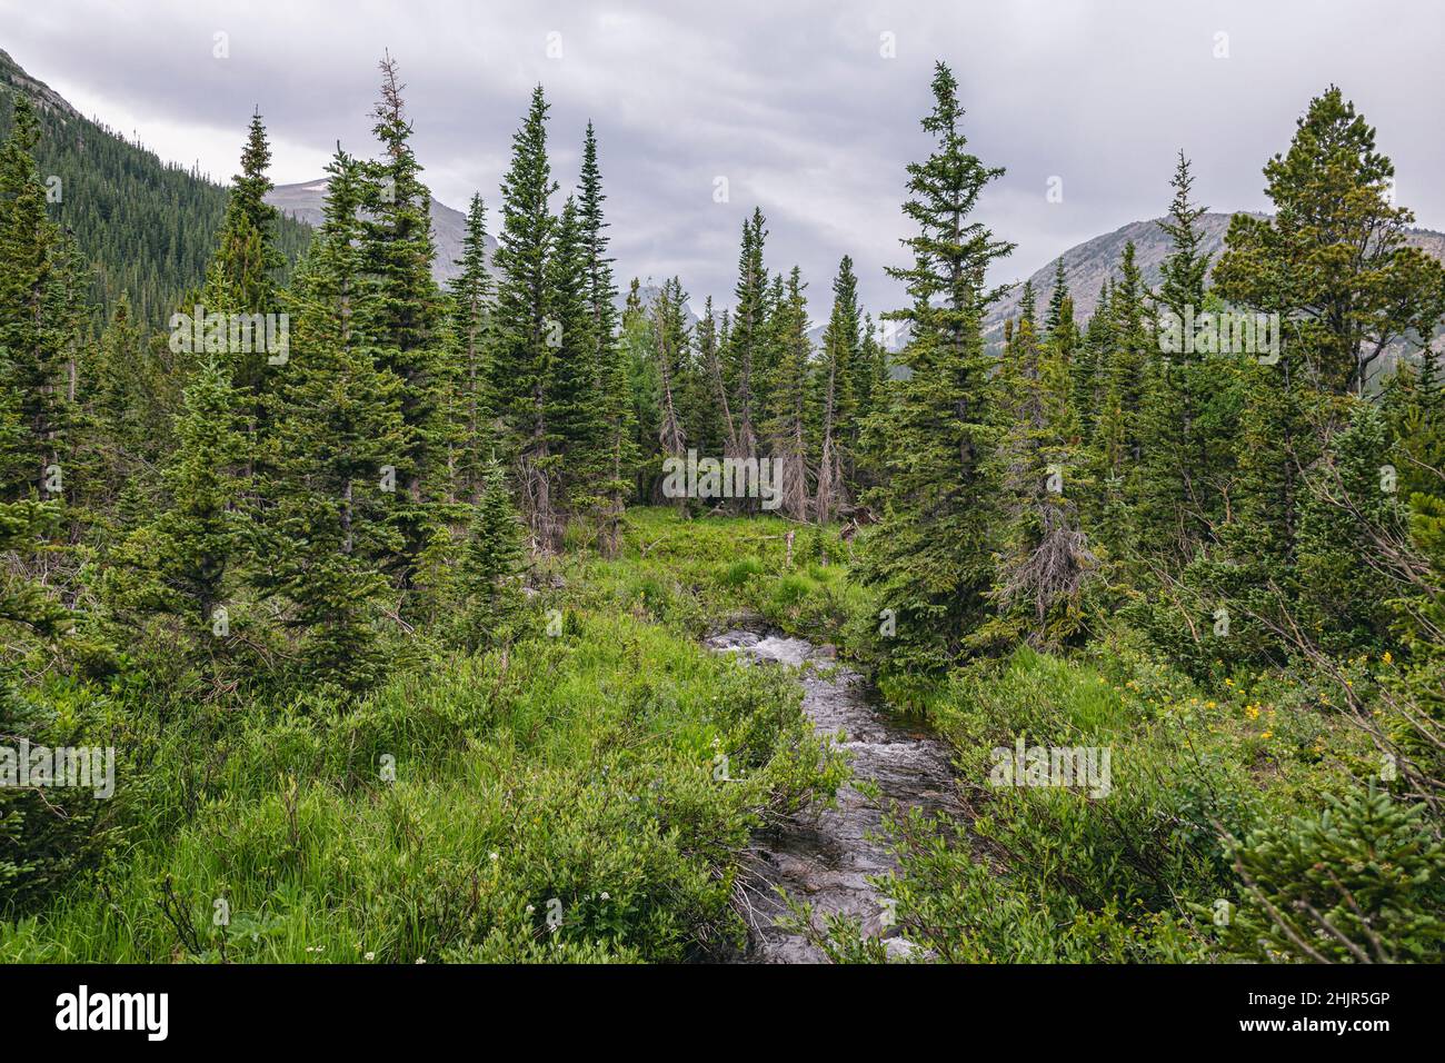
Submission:
[[[883,456],[881,483],[870,495],[880,524],[870,529],[861,565],[881,607],[892,610],[893,662],[922,667],[946,664],[987,613],[996,505],[987,461],[996,430],[981,327],[1003,292],[983,285],[990,263],[1013,249],[968,220],[1003,171],[967,152],[958,82],[944,64],[932,88],[923,129],[935,149],[909,163],[903,204],[918,226],[906,240],[915,265],[889,270],[913,301],[890,315],[912,325],[903,362],[913,372],[890,385],[887,409],[870,422]]]

